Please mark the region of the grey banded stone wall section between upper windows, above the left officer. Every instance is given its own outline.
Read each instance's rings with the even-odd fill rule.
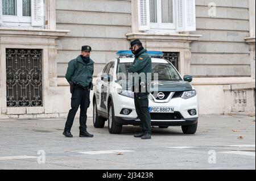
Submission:
[[[115,58],[129,43],[125,34],[131,32],[131,1],[56,0],[57,29],[71,33],[57,42],[58,77],[63,77],[67,63],[80,54],[82,45],[92,47],[94,75],[106,62]]]

